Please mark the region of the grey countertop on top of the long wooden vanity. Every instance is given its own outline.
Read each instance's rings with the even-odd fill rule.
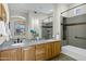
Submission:
[[[12,44],[14,44],[14,42],[13,42],[13,40],[10,40],[10,41],[7,41],[7,42],[4,42],[0,46],[0,51],[8,50],[8,49],[14,49],[14,48],[19,48],[19,47],[30,47],[30,46],[40,44],[40,43],[48,43],[48,42],[51,42],[51,41],[60,41],[60,40],[48,39],[48,40],[29,41],[28,39],[25,39],[22,42],[22,43],[24,43],[23,46],[12,46]]]

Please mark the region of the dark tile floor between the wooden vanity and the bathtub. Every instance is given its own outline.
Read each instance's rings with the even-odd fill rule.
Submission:
[[[54,57],[54,59],[52,59],[50,61],[76,61],[76,60],[74,60],[73,57],[61,53],[59,56],[57,56],[57,57]]]

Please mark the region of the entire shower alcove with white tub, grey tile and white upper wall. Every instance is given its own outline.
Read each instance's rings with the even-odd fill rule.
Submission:
[[[62,53],[77,61],[86,61],[86,4],[62,12]],[[74,16],[70,16],[74,13]]]

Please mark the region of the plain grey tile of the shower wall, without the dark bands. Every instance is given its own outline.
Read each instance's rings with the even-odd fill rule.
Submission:
[[[66,24],[72,23],[86,23],[86,14],[66,17]],[[86,24],[66,26],[66,40],[63,40],[65,46],[70,44],[86,49]],[[84,39],[78,39],[75,37],[82,37]]]

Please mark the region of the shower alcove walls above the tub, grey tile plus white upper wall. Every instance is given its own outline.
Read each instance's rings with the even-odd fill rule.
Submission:
[[[63,46],[74,46],[86,49],[86,4],[79,4],[61,13],[61,35]],[[74,13],[75,16],[70,16]],[[63,16],[66,15],[67,16]]]

